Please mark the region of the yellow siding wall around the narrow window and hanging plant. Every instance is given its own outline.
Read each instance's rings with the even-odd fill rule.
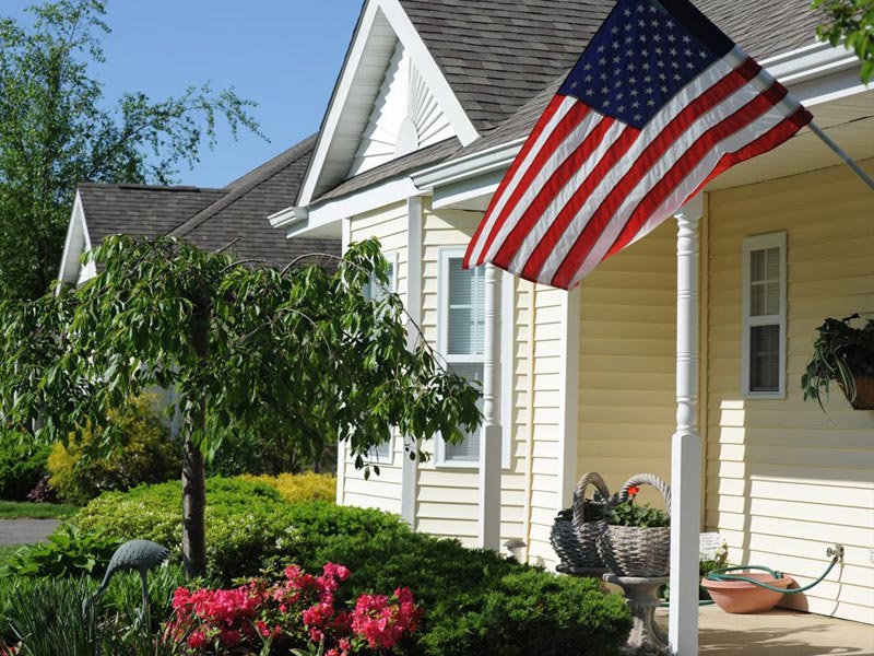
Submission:
[[[867,168],[874,169],[873,162]],[[766,564],[800,585],[842,543],[842,569],[788,606],[874,623],[874,413],[840,391],[823,414],[803,402],[801,375],[827,316],[874,315],[871,194],[845,167],[709,197],[706,524],[732,562]],[[784,231],[787,398],[741,395],[741,247]]]

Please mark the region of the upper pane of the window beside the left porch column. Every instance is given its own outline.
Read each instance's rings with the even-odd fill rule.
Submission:
[[[482,355],[485,341],[485,285],[482,268],[462,271],[449,258],[446,350],[449,355]]]

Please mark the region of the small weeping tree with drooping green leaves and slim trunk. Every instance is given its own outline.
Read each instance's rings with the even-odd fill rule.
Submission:
[[[38,415],[37,440],[62,443],[101,429],[108,446],[109,411],[152,385],[175,388],[189,574],[205,567],[203,454],[222,429],[282,426],[310,457],[347,441],[369,476],[368,453],[392,426],[416,458],[418,441],[458,443],[480,423],[480,393],[424,340],[408,349],[399,296],[365,294],[371,279],[388,284],[376,241],[333,273],[302,260],[257,268],[173,238],[114,236],[86,257],[102,272],[82,288],[0,303],[0,419]]]

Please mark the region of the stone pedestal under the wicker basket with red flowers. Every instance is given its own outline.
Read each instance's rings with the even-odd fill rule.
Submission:
[[[656,623],[656,609],[659,607],[659,588],[670,578],[643,578],[640,576],[617,576],[604,574],[604,581],[618,585],[628,599],[631,609],[631,633],[625,646],[628,656],[663,656],[669,654],[668,635]]]

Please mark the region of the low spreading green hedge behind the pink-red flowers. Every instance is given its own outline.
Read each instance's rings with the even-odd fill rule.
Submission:
[[[178,553],[180,495],[176,483],[105,494],[74,520]],[[273,488],[241,479],[210,479],[206,504],[210,573],[224,582],[292,562],[318,571],[330,561],[352,571],[350,596],[409,586],[425,616],[404,656],[607,656],[618,653],[630,628],[624,599],[605,595],[598,582],[414,534],[394,515],[287,503]]]

